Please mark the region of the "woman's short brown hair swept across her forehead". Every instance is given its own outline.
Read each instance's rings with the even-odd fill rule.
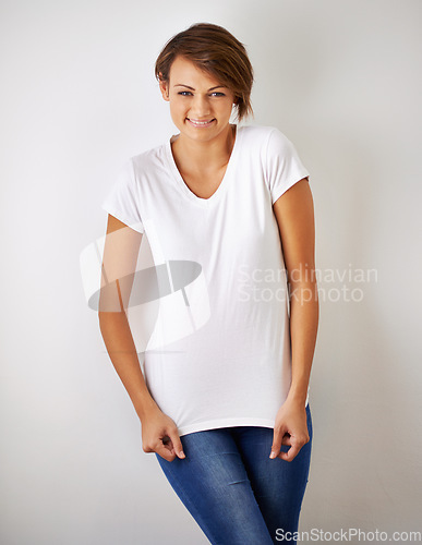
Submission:
[[[234,94],[238,121],[250,114],[253,117],[252,64],[244,45],[226,28],[212,23],[196,23],[170,38],[155,63],[158,81],[169,82],[170,68],[178,56],[193,62]]]

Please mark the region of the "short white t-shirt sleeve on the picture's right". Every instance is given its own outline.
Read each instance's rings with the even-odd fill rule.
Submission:
[[[310,177],[293,144],[276,128],[268,137],[265,168],[273,204],[302,178]]]

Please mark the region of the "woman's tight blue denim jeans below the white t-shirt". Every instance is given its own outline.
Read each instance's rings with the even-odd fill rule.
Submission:
[[[182,435],[186,456],[182,460],[177,457],[169,462],[155,453],[176,494],[213,545],[272,545],[280,543],[287,532],[298,531],[311,461],[309,404],[306,417],[310,441],[291,462],[269,458],[274,429],[261,426]]]

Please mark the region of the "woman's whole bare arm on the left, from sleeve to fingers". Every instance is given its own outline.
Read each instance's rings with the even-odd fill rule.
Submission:
[[[108,216],[98,305],[99,328],[110,360],[141,420],[145,452],[157,452],[168,461],[182,450],[174,422],[164,414],[146,386],[126,308],[136,269],[142,233]],[[170,443],[164,445],[168,436]]]

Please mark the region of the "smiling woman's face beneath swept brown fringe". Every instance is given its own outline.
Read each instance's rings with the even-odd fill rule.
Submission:
[[[171,64],[169,80],[160,89],[183,137],[207,142],[229,130],[234,101],[230,89],[182,57]]]

